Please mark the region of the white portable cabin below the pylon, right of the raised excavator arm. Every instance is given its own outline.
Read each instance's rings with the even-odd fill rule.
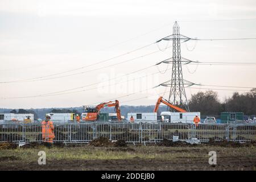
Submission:
[[[200,118],[200,112],[174,113],[170,111],[163,111],[161,113],[163,122],[170,123],[193,123],[193,119],[196,115]]]

